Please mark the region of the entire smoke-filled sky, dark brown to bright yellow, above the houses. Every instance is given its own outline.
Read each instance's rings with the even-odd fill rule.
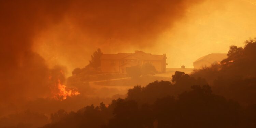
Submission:
[[[168,67],[226,53],[255,37],[252,0],[0,1],[0,101],[48,97],[54,71],[68,74],[103,53],[167,54]],[[20,101],[21,102],[21,101]],[[8,108],[8,105],[1,104]],[[1,113],[0,113],[1,114]]]

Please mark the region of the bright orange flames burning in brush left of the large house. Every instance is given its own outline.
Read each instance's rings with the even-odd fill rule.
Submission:
[[[58,93],[54,95],[54,99],[65,100],[68,96],[71,97],[80,94],[78,91],[66,89],[66,86],[61,84],[60,79],[58,79],[57,85],[55,83],[55,87],[58,88]]]

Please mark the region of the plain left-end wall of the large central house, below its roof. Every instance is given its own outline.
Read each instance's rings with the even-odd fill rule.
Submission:
[[[101,60],[101,71],[105,73],[119,73],[119,61]]]

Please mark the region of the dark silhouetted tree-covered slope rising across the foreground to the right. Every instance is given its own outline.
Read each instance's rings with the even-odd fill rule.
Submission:
[[[135,86],[108,107],[61,110],[44,128],[255,128],[255,58],[256,40],[248,40],[244,48],[231,46],[220,64]]]

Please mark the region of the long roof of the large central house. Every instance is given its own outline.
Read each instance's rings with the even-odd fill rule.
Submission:
[[[127,57],[136,57],[141,60],[163,60],[165,55],[153,55],[142,51],[135,51],[135,53],[118,53],[118,54],[102,54],[101,60],[119,60]]]

